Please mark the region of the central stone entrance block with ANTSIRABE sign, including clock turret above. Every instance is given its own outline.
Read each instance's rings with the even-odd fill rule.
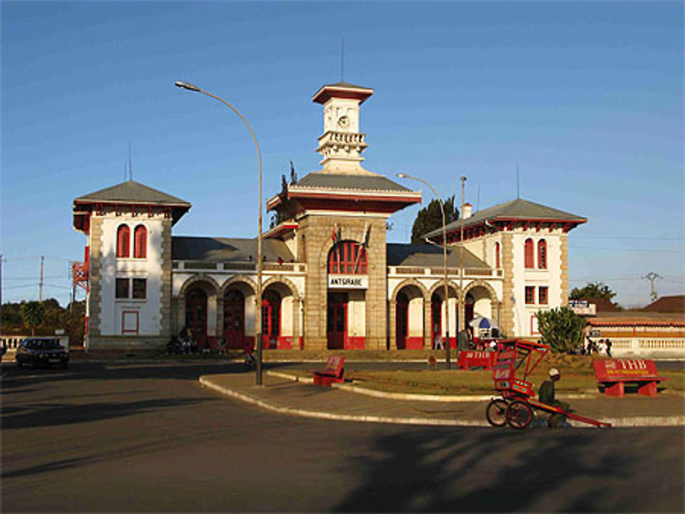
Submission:
[[[314,94],[323,105],[322,169],[266,203],[286,220],[271,234],[307,265],[304,348],[384,349],[388,341],[386,220],[421,193],[361,166],[360,105],[372,94],[346,82]]]

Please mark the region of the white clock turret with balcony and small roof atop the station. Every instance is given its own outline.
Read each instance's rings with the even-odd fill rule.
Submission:
[[[371,97],[373,89],[338,82],[323,86],[312,101],[323,104],[323,135],[317,152],[323,159],[321,172],[364,175],[362,152],[369,146],[360,131],[359,106]]]

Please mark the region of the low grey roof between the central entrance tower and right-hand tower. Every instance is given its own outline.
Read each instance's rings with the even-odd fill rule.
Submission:
[[[386,245],[388,266],[424,266],[441,268],[443,266],[443,248],[432,244],[398,244]],[[447,266],[458,268],[460,249],[447,248]],[[484,261],[464,248],[464,268],[490,268]]]

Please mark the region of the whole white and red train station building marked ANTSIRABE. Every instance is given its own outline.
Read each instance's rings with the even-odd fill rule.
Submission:
[[[445,298],[441,229],[426,244],[386,242],[388,219],[422,194],[362,167],[360,107],[372,94],[340,82],[312,97],[321,169],[266,201],[278,223],[263,238],[259,306],[256,238],[173,235],[190,203],[134,181],[75,198],[87,347],[164,346],[187,328],[201,344],[242,348],[257,309],[264,348],[432,348],[448,328],[454,347],[467,327],[538,335],[535,313],[567,303],[567,234],[586,219],[521,198],[467,204],[463,262],[462,220],[446,227]]]

